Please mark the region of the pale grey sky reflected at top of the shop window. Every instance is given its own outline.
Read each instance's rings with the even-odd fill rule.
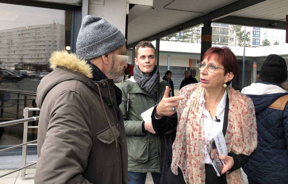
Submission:
[[[29,25],[65,24],[65,11],[0,3],[0,30]]]

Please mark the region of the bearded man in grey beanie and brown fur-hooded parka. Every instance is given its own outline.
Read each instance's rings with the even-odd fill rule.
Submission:
[[[37,88],[41,109],[35,184],[127,184],[121,90],[126,39],[102,17],[86,16],[76,55],[54,52]]]

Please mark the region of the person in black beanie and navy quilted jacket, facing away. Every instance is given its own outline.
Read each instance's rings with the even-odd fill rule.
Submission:
[[[244,165],[251,184],[288,183],[288,93],[285,59],[267,56],[257,81],[241,91],[253,101],[257,120],[258,144]]]

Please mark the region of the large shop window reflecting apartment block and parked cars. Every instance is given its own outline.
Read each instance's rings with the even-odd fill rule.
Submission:
[[[51,72],[50,53],[70,46],[71,17],[72,11],[67,9],[0,3],[0,122],[22,119],[25,106],[36,107],[40,79],[33,72]],[[28,125],[37,126],[38,122]],[[22,143],[21,124],[4,129],[1,145]],[[28,132],[28,141],[37,139],[37,129]]]

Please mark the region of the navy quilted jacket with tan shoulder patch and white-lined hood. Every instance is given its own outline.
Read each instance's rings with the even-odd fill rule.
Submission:
[[[281,87],[257,81],[241,91],[255,106],[258,145],[244,165],[248,180],[258,183],[288,183],[288,103],[284,109],[270,106],[286,95]]]

